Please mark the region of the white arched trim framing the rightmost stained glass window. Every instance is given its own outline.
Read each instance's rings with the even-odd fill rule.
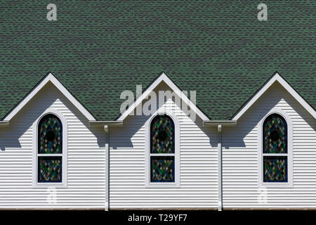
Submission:
[[[263,122],[265,119],[277,113],[284,117],[287,122],[287,182],[263,182]],[[293,187],[293,124],[287,113],[279,108],[272,108],[265,117],[258,123],[258,186],[270,188],[291,188]],[[270,154],[270,155],[286,155],[286,154]]]

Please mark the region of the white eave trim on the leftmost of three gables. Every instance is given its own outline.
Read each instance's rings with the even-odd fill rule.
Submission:
[[[66,96],[66,98],[72,104],[74,104],[74,106],[76,106],[77,109],[88,120],[96,120],[96,118],[93,117],[93,115],[91,115],[91,113],[89,113],[88,110],[86,110],[86,108],[84,108],[84,105],[79,103],[79,101],[76,98],[74,98],[74,96],[72,96],[70,91],[68,91],[65,88],[65,86],[63,86],[62,83],[60,83],[58,81],[58,79],[56,79],[56,77],[54,77],[54,75],[51,74],[51,72],[50,72],[48,75],[46,75],[46,77],[39,84],[37,84],[37,86],[33,89],[33,91],[31,91],[20,103],[18,103],[18,105],[15,106],[15,108],[13,108],[11,113],[9,113],[8,115],[6,115],[6,117],[4,117],[4,121],[10,121],[12,119],[12,117],[14,117],[48,82],[51,82],[53,85],[55,85],[56,88],[62,94],[64,94]]]

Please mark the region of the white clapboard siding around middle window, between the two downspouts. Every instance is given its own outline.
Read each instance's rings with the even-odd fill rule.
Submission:
[[[145,188],[148,117],[130,115],[110,129],[110,208],[217,208],[217,130],[193,122],[171,99],[162,107],[180,123],[180,188]]]

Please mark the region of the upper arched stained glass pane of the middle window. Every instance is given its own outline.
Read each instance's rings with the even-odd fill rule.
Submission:
[[[150,153],[174,153],[174,124],[167,115],[157,115],[150,126]]]

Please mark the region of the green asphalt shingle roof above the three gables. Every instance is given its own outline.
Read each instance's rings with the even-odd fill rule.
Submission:
[[[121,91],[164,71],[227,120],[278,71],[316,108],[315,1],[0,2],[0,118],[47,72],[96,117],[114,120]]]

